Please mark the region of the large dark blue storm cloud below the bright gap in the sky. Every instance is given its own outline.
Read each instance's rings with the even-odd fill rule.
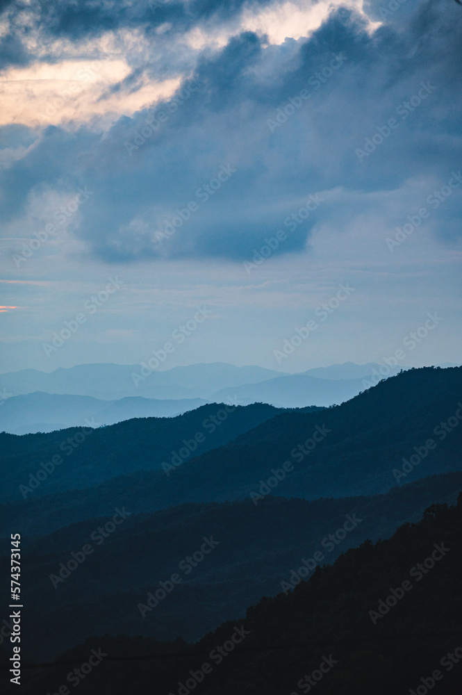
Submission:
[[[263,38],[242,33],[219,54],[199,59],[199,88],[180,90],[177,108],[163,104],[123,117],[104,136],[84,128],[75,137],[49,131],[10,170],[15,211],[32,188],[76,177],[94,190],[76,234],[108,262],[246,260],[278,229],[288,234],[274,254],[299,252],[318,223],[335,224],[340,233],[368,211],[366,194],[394,191],[398,198],[409,179],[429,181],[409,197],[411,213],[431,193],[430,182],[443,186],[462,163],[460,21],[456,3],[437,0],[373,35],[357,16],[333,13],[311,38],[290,43],[292,52],[287,42],[267,47]],[[334,60],[336,70],[329,68]],[[286,108],[298,104],[303,89],[311,96]],[[156,124],[150,133],[149,121]],[[207,199],[198,195],[222,165],[236,172]],[[335,189],[350,197],[340,204]],[[297,219],[315,193],[322,193],[322,204],[294,228],[291,215]],[[435,211],[438,236],[460,237],[460,199],[454,190]],[[156,232],[191,202],[197,209],[188,220],[156,241]],[[395,211],[386,214],[393,228]]]

